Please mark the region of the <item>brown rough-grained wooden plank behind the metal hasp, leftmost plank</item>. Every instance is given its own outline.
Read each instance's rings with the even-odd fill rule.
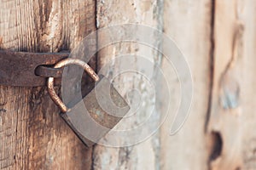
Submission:
[[[93,0],[1,1],[0,48],[72,50],[96,30],[95,13]],[[58,113],[46,88],[0,87],[0,169],[90,169],[91,150]]]

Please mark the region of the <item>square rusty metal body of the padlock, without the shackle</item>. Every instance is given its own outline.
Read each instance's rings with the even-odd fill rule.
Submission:
[[[79,139],[90,147],[115,127],[129,110],[129,105],[108,78],[100,76],[100,81],[96,82],[90,93],[70,111],[61,113],[61,117]]]

